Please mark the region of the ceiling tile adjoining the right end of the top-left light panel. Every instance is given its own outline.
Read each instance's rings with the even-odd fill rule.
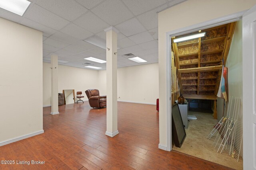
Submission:
[[[25,18],[56,30],[63,28],[69,23],[68,20],[63,19],[36,4],[31,8],[31,10],[26,12],[24,16]]]

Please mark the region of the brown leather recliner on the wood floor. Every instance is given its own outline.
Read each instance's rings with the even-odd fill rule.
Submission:
[[[85,91],[85,94],[89,99],[91,107],[99,108],[107,106],[107,96],[100,96],[98,89],[88,89]]]

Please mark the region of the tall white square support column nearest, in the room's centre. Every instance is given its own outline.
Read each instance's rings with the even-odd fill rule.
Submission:
[[[117,33],[115,27],[104,29],[106,32],[107,59],[107,130],[110,137],[117,135]]]

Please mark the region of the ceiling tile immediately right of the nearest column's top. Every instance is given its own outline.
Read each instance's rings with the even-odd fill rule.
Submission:
[[[131,20],[120,23],[116,25],[116,28],[126,37],[146,31],[137,18],[132,18]]]

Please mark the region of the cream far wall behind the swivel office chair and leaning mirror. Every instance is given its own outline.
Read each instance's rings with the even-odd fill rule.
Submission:
[[[44,100],[43,106],[51,105],[51,64],[43,63],[43,89]],[[58,92],[62,93],[64,89],[74,89],[75,96],[77,91],[82,91],[82,100],[87,101],[88,98],[85,90],[90,88],[98,88],[98,71],[70,66],[58,66]],[[76,100],[78,100],[76,98]]]

